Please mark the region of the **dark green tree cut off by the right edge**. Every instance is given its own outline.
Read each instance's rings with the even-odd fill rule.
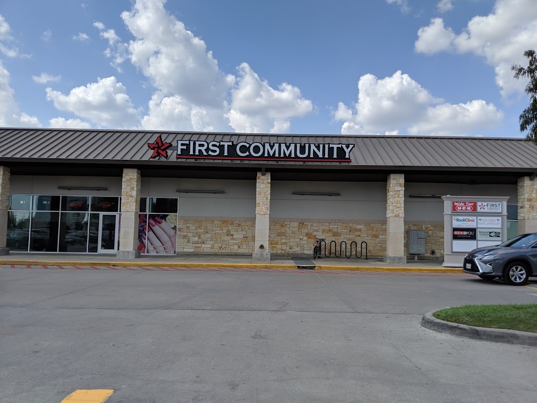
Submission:
[[[524,92],[529,95],[529,106],[522,111],[519,116],[520,132],[526,134],[526,139],[533,141],[537,145],[537,53],[533,49],[524,52],[524,57],[528,59],[528,67],[513,64],[511,70],[514,71],[514,78],[517,80],[528,78]]]

